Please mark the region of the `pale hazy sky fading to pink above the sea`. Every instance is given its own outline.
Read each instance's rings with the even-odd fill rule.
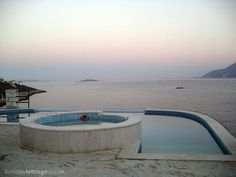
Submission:
[[[0,77],[198,77],[236,61],[235,17],[235,0],[0,0]]]

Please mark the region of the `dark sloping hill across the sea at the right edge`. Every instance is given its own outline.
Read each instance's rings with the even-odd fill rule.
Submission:
[[[236,63],[224,69],[213,70],[203,75],[202,78],[236,78]]]

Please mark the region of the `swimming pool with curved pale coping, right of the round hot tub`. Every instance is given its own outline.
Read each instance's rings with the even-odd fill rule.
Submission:
[[[165,109],[136,115],[142,115],[142,140],[117,158],[236,161],[236,139],[207,115]]]

